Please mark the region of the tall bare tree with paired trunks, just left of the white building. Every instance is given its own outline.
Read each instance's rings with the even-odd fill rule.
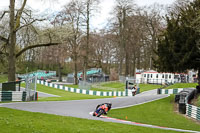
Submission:
[[[116,13],[117,38],[120,50],[119,74],[122,74],[123,62],[125,59],[125,76],[129,74],[129,46],[128,46],[128,17],[133,14],[134,3],[131,0],[117,0],[114,12]]]

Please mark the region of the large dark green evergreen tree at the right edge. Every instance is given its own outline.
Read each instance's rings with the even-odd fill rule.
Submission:
[[[200,84],[200,0],[194,0],[180,13],[167,16],[167,28],[159,38],[155,66],[159,71],[184,72],[198,70]]]

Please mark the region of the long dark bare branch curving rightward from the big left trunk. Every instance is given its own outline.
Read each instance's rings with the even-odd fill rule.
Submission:
[[[47,46],[53,46],[53,45],[59,45],[59,44],[61,43],[44,43],[44,44],[36,44],[36,45],[27,46],[16,54],[16,58],[19,57],[24,52],[26,52],[27,50],[32,49],[32,48],[47,47]]]

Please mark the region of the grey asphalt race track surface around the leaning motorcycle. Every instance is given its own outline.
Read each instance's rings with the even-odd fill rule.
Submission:
[[[0,107],[12,108],[17,110],[24,110],[30,112],[40,112],[61,116],[71,116],[84,119],[101,120],[105,122],[123,123],[135,126],[158,128],[163,130],[173,130],[178,132],[191,132],[200,133],[199,131],[182,130],[176,128],[159,127],[156,125],[142,124],[132,121],[120,120],[102,116],[100,118],[91,115],[100,103],[111,102],[112,109],[126,108],[135,106],[158,99],[166,98],[169,95],[157,95],[156,90],[151,90],[138,94],[134,97],[116,97],[116,98],[105,98],[105,99],[90,99],[90,100],[72,100],[72,101],[48,101],[48,102],[15,102],[15,103],[2,103]]]

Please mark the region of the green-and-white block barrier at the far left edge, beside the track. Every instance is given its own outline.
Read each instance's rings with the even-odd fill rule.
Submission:
[[[25,91],[0,91],[0,101],[25,101]]]

